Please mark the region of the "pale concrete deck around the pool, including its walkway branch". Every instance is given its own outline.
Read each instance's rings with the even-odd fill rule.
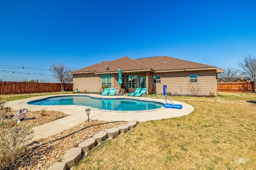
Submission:
[[[54,96],[92,96],[98,98],[133,98],[138,100],[148,100],[154,102],[161,102],[165,104],[165,99],[153,99],[147,97],[133,97],[133,96],[100,96],[98,94],[68,94],[68,95],[54,95]],[[144,111],[110,111],[103,109],[96,109],[94,107],[88,106],[77,106],[77,105],[57,105],[57,106],[35,106],[27,104],[32,100],[38,100],[42,98],[53,97],[53,96],[38,96],[33,98],[14,100],[6,102],[6,107],[12,107],[14,110],[19,110],[21,108],[27,108],[28,110],[35,111],[41,110],[42,107],[47,107],[47,110],[56,110],[61,111],[68,116],[62,117],[60,119],[54,120],[43,125],[33,127],[34,138],[32,141],[38,139],[50,137],[56,135],[66,129],[70,129],[84,121],[88,120],[85,109],[91,109],[89,118],[92,120],[105,120],[105,121],[131,121],[138,120],[149,121],[149,120],[159,120],[166,119],[171,117],[179,117],[183,115],[188,115],[194,111],[194,107],[183,102],[173,101],[174,104],[182,104],[182,109],[173,109],[173,108],[159,108],[153,110],[144,110]]]

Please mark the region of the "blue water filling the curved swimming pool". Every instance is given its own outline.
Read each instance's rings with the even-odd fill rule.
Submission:
[[[57,96],[28,102],[32,105],[80,105],[98,109],[118,111],[151,110],[163,107],[164,104],[126,98],[94,98],[91,96]]]

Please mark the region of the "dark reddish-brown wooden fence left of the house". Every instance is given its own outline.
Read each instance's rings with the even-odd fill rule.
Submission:
[[[0,82],[0,94],[23,94],[60,91],[60,83]],[[73,91],[73,84],[71,84],[66,91]]]

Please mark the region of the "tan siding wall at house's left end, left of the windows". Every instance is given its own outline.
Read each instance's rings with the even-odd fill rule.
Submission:
[[[74,74],[73,77],[73,91],[76,89],[79,92],[98,92],[100,88],[100,78],[97,74]]]

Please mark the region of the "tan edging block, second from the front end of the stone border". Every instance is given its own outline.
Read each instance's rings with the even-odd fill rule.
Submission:
[[[82,157],[81,148],[71,148],[67,154],[65,154],[61,162],[66,163],[66,168],[71,168]]]

